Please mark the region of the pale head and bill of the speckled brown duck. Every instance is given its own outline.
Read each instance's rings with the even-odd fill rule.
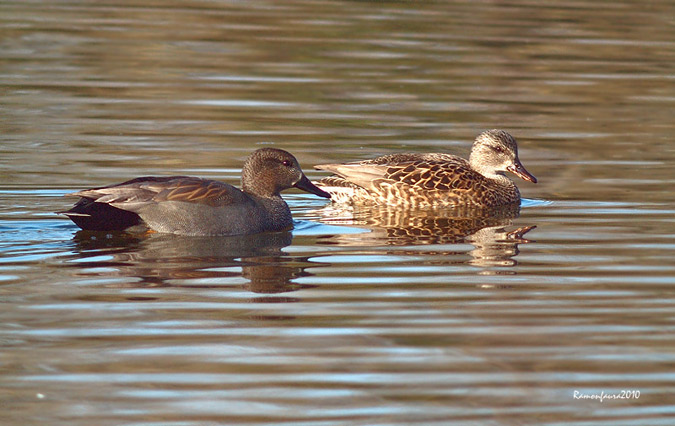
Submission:
[[[476,138],[469,157],[471,167],[482,175],[495,177],[509,171],[521,179],[537,183],[518,159],[518,144],[503,130],[487,130]]]

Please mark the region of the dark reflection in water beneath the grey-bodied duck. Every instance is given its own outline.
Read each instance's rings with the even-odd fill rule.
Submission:
[[[243,287],[254,293],[283,293],[307,287],[293,280],[317,266],[282,251],[292,239],[289,231],[230,237],[79,231],[74,266],[97,277],[140,278],[125,287],[228,288],[219,281],[242,277]]]

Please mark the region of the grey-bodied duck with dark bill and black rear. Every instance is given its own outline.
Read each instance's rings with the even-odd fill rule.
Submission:
[[[246,235],[293,226],[280,192],[297,187],[330,198],[314,186],[286,151],[253,152],[242,170],[242,190],[190,176],[140,177],[118,185],[85,189],[62,212],[80,228],[98,231],[136,226],[180,235]]]

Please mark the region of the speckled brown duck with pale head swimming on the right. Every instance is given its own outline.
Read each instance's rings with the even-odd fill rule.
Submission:
[[[520,164],[515,139],[503,130],[481,133],[469,161],[443,153],[406,153],[315,167],[335,173],[317,186],[343,203],[491,208],[520,202],[518,188],[504,171],[537,181]]]

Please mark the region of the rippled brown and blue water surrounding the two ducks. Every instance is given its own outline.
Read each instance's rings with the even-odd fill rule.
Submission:
[[[1,3],[1,423],[672,424],[671,16]],[[260,146],[319,178],[495,127],[539,179],[518,215],[290,191],[292,233],[140,238],[53,213],[140,175],[238,184]]]

